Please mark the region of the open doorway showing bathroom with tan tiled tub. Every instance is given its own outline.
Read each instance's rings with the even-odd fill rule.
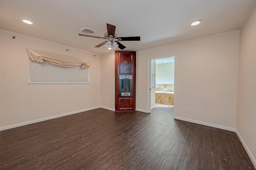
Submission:
[[[150,61],[149,113],[155,107],[174,107],[174,65],[174,56]]]

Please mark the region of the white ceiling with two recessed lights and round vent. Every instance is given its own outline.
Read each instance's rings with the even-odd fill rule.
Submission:
[[[239,30],[256,0],[1,0],[0,28],[27,36],[106,53],[104,40],[78,36],[87,27],[104,37],[106,23],[119,37],[140,36],[140,42],[121,42],[124,50],[140,51],[204,36]],[[22,20],[30,20],[28,25]],[[190,26],[202,20],[198,26]],[[120,50],[118,48],[118,50]]]

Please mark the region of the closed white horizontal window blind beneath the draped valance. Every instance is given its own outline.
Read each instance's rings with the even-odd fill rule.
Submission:
[[[90,84],[89,68],[81,69],[81,66],[64,68],[48,62],[38,63],[28,59],[28,85]]]

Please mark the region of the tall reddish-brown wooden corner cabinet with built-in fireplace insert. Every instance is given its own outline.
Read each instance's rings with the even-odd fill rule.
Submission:
[[[135,111],[136,51],[115,52],[116,111]]]

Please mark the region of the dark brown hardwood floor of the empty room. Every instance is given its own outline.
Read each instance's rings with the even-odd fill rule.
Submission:
[[[235,132],[152,113],[94,109],[0,132],[0,169],[255,170]]]

